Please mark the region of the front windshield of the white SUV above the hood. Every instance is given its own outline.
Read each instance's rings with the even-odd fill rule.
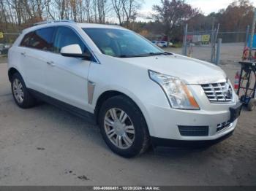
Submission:
[[[129,58],[167,54],[132,31],[115,28],[83,28],[83,31],[105,55]]]

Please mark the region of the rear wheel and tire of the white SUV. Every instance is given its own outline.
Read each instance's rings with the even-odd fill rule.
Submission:
[[[31,108],[35,105],[34,97],[26,88],[25,82],[19,73],[15,73],[11,78],[12,96],[15,103],[23,109]]]

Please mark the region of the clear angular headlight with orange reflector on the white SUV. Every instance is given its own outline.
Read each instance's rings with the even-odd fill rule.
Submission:
[[[154,82],[162,87],[171,107],[175,109],[200,109],[191,91],[181,79],[150,70],[148,74]]]

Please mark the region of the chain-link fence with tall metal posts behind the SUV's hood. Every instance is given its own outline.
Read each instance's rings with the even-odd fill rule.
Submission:
[[[245,31],[187,31],[184,28],[183,55],[211,63],[241,61],[248,44],[249,27]]]

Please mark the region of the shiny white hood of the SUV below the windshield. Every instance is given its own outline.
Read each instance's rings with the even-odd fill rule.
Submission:
[[[225,82],[227,76],[219,66],[182,55],[159,55],[139,58],[120,58],[152,71],[182,79],[187,84]]]

